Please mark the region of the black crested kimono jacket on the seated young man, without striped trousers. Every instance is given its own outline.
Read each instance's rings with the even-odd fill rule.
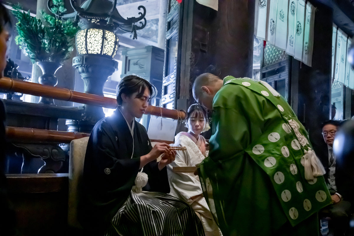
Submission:
[[[79,220],[85,228],[107,227],[130,194],[140,157],[152,149],[145,127],[134,122],[134,139],[118,109],[92,130],[84,162],[84,194],[79,203]],[[144,166],[144,172],[149,178],[144,191],[170,192],[166,167],[159,171],[158,162],[152,161]]]

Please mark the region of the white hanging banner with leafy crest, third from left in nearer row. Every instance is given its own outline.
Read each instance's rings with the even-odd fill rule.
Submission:
[[[286,50],[287,39],[287,19],[289,1],[278,0],[276,8],[275,42],[274,45],[282,50]]]

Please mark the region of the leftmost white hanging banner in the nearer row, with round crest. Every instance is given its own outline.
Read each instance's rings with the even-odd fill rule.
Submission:
[[[268,1],[269,0],[258,0],[256,1],[255,6],[255,14],[257,14],[257,23],[255,22],[255,27],[257,30],[255,31],[255,34],[258,39],[263,40],[267,40],[267,14],[269,6]]]

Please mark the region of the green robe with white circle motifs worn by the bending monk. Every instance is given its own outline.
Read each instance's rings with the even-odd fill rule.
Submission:
[[[331,197],[322,176],[304,177],[312,146],[285,99],[258,81],[228,76],[213,99],[212,122],[209,157],[198,170],[223,235],[276,235],[285,226],[315,235],[315,220],[304,222]]]

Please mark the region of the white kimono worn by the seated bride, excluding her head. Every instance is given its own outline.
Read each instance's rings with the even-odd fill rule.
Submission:
[[[199,145],[196,144],[205,143],[205,138],[201,135],[198,140],[192,138],[195,139],[186,132],[180,132],[175,136],[175,144],[172,146],[185,146],[187,150],[177,150],[175,161],[167,166],[170,194],[187,202],[195,212],[200,214],[206,236],[222,235],[203,196],[198,175],[172,172],[173,167],[195,166],[207,156],[202,154]]]

